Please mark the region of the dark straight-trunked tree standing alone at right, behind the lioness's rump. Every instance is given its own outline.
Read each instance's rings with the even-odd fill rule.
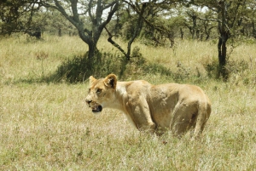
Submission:
[[[207,10],[212,11],[212,18],[203,20],[214,21],[218,23],[218,77],[223,77],[227,80],[229,73],[226,69],[227,63],[227,41],[230,37],[236,37],[239,35],[239,29],[241,28],[242,18],[244,11],[247,9],[247,0],[220,0],[220,1],[202,1],[195,0],[193,2],[187,1],[187,3],[207,7]]]

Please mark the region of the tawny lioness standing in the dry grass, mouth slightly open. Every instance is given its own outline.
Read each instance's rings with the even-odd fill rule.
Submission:
[[[93,112],[119,109],[139,130],[170,129],[174,135],[195,128],[199,135],[211,114],[211,102],[194,85],[166,83],[152,85],[144,80],[117,82],[114,74],[96,79],[90,76],[86,102]]]

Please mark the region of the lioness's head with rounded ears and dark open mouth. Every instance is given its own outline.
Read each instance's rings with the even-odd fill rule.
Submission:
[[[89,79],[90,88],[85,101],[93,112],[100,112],[105,105],[113,100],[117,77],[114,74],[109,74],[105,78],[96,79],[90,76]]]

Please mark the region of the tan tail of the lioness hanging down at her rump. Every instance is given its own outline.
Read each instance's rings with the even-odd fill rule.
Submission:
[[[210,101],[206,97],[206,100],[201,100],[201,102],[198,105],[198,116],[196,118],[194,138],[198,137],[199,134],[201,134],[201,132],[205,128],[207,120],[210,117],[211,111],[212,109]]]

